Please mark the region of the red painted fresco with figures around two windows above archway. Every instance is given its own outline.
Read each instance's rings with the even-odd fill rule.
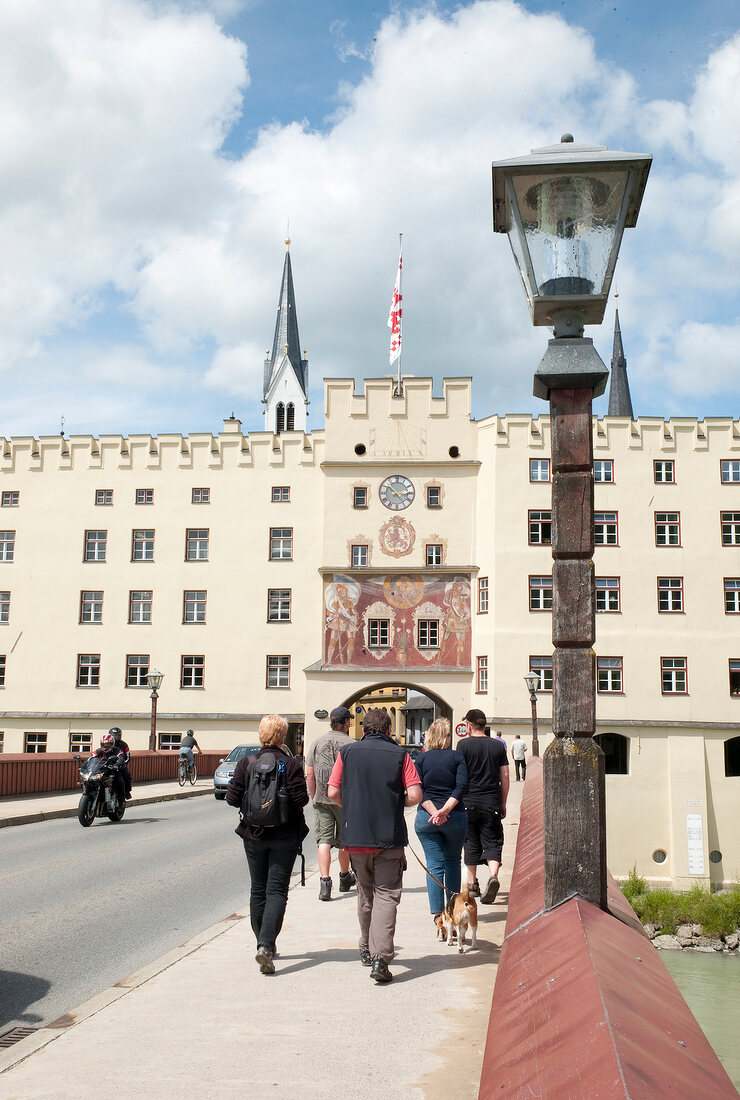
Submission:
[[[324,666],[470,668],[467,576],[334,573],[324,586]]]

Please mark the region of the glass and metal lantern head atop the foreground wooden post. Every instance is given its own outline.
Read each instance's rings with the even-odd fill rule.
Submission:
[[[533,324],[564,311],[600,324],[651,163],[649,154],[576,145],[570,134],[494,163],[494,231],[509,238]]]

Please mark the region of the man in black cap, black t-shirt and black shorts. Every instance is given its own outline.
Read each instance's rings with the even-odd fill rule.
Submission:
[[[484,905],[493,905],[499,889],[498,871],[504,849],[506,800],[509,793],[509,760],[497,737],[486,737],[486,716],[472,710],[465,715],[468,736],[457,745],[467,765],[465,810],[465,866],[468,891],[481,898]],[[477,879],[479,864],[488,866],[490,878],[481,893]]]

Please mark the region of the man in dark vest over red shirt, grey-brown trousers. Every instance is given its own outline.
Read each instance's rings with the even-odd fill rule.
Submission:
[[[357,878],[360,959],[382,982],[393,979],[388,963],[408,844],[404,810],[421,802],[421,780],[408,752],[391,740],[385,711],[368,711],[363,728],[363,739],[336,757],[328,793],[342,806],[342,840]]]

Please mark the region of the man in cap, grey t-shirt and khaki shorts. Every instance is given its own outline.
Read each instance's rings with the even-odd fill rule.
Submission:
[[[340,749],[350,744],[352,713],[336,706],[329,716],[331,728],[317,737],[306,757],[306,782],[313,800],[313,821],[319,860],[319,901],[331,901],[331,849],[339,848],[339,890],[346,893],[355,883],[350,870],[350,853],[342,847],[342,810],[329,798],[327,788]]]

